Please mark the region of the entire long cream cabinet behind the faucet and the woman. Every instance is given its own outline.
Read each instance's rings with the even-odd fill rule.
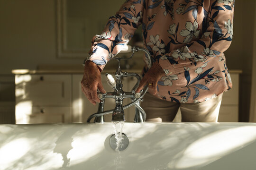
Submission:
[[[107,92],[113,91],[102,73],[102,84]],[[238,122],[239,74],[231,74],[233,88],[223,94],[219,112],[219,122]],[[86,122],[96,113],[98,104],[93,106],[82,93],[82,74],[24,74],[15,76],[16,84],[16,123],[60,123]],[[136,84],[134,77],[124,78],[123,90],[130,92]],[[123,105],[131,102],[125,99]],[[114,99],[106,99],[104,110],[115,108]],[[134,106],[124,110],[125,119],[133,122]],[[105,121],[111,120],[105,115]],[[180,112],[175,121],[181,120]],[[93,120],[91,120],[93,121]]]

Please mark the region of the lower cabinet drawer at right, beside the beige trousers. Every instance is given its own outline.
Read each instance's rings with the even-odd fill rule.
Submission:
[[[238,122],[238,106],[220,106],[219,122]]]

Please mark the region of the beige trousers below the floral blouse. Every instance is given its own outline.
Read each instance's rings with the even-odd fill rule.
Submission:
[[[182,122],[217,122],[222,94],[200,103],[167,102],[149,93],[143,99],[141,107],[146,112],[146,121],[171,122],[180,107]]]

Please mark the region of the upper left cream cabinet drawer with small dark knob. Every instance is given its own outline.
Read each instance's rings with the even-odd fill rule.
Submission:
[[[16,75],[16,105],[70,105],[70,75]]]

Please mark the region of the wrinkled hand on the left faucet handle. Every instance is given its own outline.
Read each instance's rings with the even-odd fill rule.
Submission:
[[[90,60],[86,61],[84,64],[81,86],[82,92],[93,105],[96,105],[96,102],[101,102],[97,95],[97,88],[101,93],[106,93],[101,83],[101,71],[98,66]]]

